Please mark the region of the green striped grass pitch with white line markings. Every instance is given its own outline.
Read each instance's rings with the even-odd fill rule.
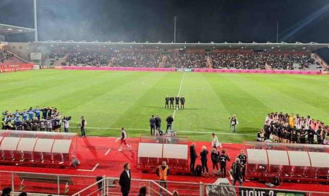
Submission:
[[[150,134],[149,119],[160,114],[161,129],[174,115],[173,129],[190,140],[240,143],[255,140],[269,112],[311,115],[329,124],[329,75],[33,70],[0,74],[2,110],[56,107],[72,116],[70,132],[81,115],[89,136],[130,137]],[[164,109],[166,95],[184,95],[184,110]],[[237,133],[229,117],[237,115]]]

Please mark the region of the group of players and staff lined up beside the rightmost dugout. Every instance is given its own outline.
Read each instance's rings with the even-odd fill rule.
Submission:
[[[306,142],[306,138],[309,144],[313,144],[314,140],[317,144],[323,144],[325,136],[329,135],[329,127],[309,115],[304,119],[298,114],[273,112],[266,116],[264,128],[259,133],[263,135],[263,140],[270,139],[272,135],[276,142],[297,143],[299,135],[301,144]]]

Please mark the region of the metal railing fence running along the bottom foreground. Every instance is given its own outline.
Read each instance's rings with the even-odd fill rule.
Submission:
[[[97,180],[98,181],[97,181]],[[115,196],[122,195],[118,178],[88,177],[78,175],[60,175],[44,173],[25,173],[0,171],[1,187],[11,187],[12,195],[27,192],[29,196],[49,194],[72,196]],[[132,179],[129,195],[136,196],[141,186],[147,187],[147,195],[172,195],[174,190],[181,196],[215,196],[215,195],[269,195],[269,196],[329,196],[327,192],[295,191],[257,187],[239,187],[228,184],[203,184],[190,182],[168,182],[167,189],[159,181]]]

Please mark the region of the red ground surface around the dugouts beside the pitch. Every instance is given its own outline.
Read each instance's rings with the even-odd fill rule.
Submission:
[[[77,140],[77,159],[80,161],[80,165],[77,167],[67,168],[51,168],[51,167],[33,167],[33,166],[19,166],[19,165],[0,165],[2,171],[20,171],[20,172],[35,172],[35,173],[53,173],[53,174],[68,174],[68,175],[89,175],[89,176],[102,176],[119,178],[122,172],[123,165],[130,163],[131,173],[133,179],[150,179],[158,180],[154,172],[142,173],[137,169],[137,147],[139,139],[128,139],[127,143],[132,145],[132,150],[129,151],[127,146],[122,146],[122,151],[118,151],[119,140],[118,138],[102,138],[102,137],[90,137],[78,138]],[[201,147],[204,145],[210,152],[211,142],[196,142],[196,151],[199,153]],[[189,146],[192,142],[189,142]],[[242,144],[228,144],[222,143],[227,153],[229,153],[231,162],[228,162],[228,168],[231,168],[237,155],[240,153]],[[210,161],[210,154],[208,156],[209,172],[212,173],[212,163]],[[196,165],[201,164],[198,157]],[[170,166],[170,165],[169,165]],[[186,174],[171,174],[169,181],[176,182],[203,182],[214,183],[217,180],[216,175],[205,175],[204,177],[195,177],[190,173]],[[231,179],[227,174],[227,178],[230,182]],[[243,186],[269,188],[268,186],[259,183],[257,179],[246,179],[249,182],[243,183]],[[297,182],[283,182],[280,186],[273,188],[290,189],[290,190],[307,190],[307,191],[320,191],[329,192],[329,185],[323,185],[318,183],[297,183]]]

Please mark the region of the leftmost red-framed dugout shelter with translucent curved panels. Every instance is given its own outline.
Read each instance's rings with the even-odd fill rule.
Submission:
[[[76,166],[77,133],[0,130],[0,163]]]

